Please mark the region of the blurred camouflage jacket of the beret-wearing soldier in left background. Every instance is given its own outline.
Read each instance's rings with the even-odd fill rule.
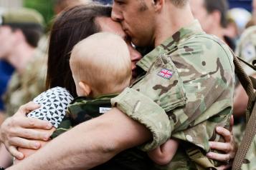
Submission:
[[[23,104],[32,101],[36,96],[46,90],[47,74],[47,37],[39,41],[32,61],[29,62],[22,74],[14,72],[9,81],[4,104],[7,116],[12,116]]]

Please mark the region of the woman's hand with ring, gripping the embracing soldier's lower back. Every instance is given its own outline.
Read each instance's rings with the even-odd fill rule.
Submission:
[[[209,152],[207,156],[210,159],[217,161],[225,161],[227,165],[219,166],[218,170],[229,169],[232,166],[232,160],[237,152],[237,146],[234,142],[234,136],[232,132],[232,127],[234,124],[233,116],[230,119],[230,129],[224,129],[223,127],[217,127],[216,131],[218,134],[222,135],[225,143],[209,141],[211,149],[216,149],[218,151],[224,152],[224,154],[217,154],[214,152]]]

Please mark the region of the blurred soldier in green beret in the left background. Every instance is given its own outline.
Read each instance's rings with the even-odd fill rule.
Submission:
[[[26,84],[42,84],[42,81],[38,81],[39,77],[37,80],[32,80],[27,74],[34,74],[34,71],[27,71],[27,69],[29,69],[29,62],[37,59],[34,56],[41,56],[41,54],[37,54],[36,47],[43,34],[43,18],[41,14],[32,9],[10,9],[3,14],[3,23],[0,29],[6,31],[10,39],[8,41],[9,49],[6,49],[8,51],[6,51],[4,59],[16,69],[4,96],[6,113],[11,115],[15,113],[20,104],[30,100],[28,99],[30,93],[38,95],[37,90],[26,89]],[[4,43],[6,44],[6,41]],[[39,76],[41,75],[39,74]],[[40,89],[39,92],[42,90],[44,89]]]

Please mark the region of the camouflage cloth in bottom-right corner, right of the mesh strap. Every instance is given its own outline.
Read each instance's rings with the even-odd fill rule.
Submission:
[[[242,170],[255,170],[256,169],[256,136],[254,137],[249,151],[243,161]]]

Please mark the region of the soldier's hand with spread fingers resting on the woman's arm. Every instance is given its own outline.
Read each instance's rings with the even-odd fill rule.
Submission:
[[[39,149],[40,144],[37,141],[29,139],[36,139],[47,141],[49,140],[49,132],[37,131],[36,129],[52,129],[52,124],[48,121],[42,121],[35,118],[27,118],[27,113],[38,109],[39,105],[29,102],[19,108],[19,110],[6,119],[0,128],[0,141],[4,143],[6,149],[16,157],[16,159],[23,159],[24,155],[16,148],[22,147],[27,149]]]

